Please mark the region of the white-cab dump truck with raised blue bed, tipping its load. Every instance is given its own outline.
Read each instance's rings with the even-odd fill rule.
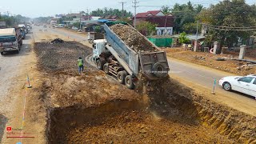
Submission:
[[[145,39],[144,42],[155,49],[154,51],[146,51],[147,48],[134,50],[111,30],[111,26],[116,24],[130,26],[125,22],[106,22],[102,25],[105,30],[105,39],[94,40],[92,59],[98,69],[103,70],[106,74],[112,74],[118,82],[125,84],[129,89],[134,89],[135,83],[142,78],[150,81],[166,78],[170,68],[165,51],[154,46],[146,37],[130,26],[131,30]]]

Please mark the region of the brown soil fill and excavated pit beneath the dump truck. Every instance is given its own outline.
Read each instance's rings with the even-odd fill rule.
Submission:
[[[35,50],[45,75],[48,143],[256,142],[254,117],[210,102],[173,79],[150,82],[148,93],[138,94],[88,63],[78,75],[78,55],[85,57],[90,48],[36,43]]]

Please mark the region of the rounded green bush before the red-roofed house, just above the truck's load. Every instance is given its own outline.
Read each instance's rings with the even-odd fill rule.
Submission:
[[[155,33],[155,27],[158,26],[151,22],[142,21],[136,26],[137,30],[144,35],[151,35]]]

